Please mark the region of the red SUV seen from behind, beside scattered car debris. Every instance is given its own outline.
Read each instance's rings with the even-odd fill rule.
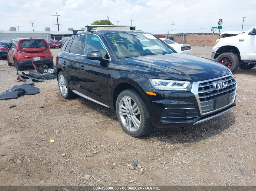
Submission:
[[[15,65],[16,70],[21,70],[22,66],[47,65],[53,67],[52,53],[44,39],[38,38],[18,38],[12,39],[7,50],[8,65]]]

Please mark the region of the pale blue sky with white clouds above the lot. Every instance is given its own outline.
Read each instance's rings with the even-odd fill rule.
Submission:
[[[154,34],[211,32],[223,19],[223,30],[244,30],[256,25],[256,0],[12,0],[1,2],[0,30],[20,26],[21,30],[56,31],[60,14],[60,30],[80,29],[95,20],[108,19],[117,25],[133,25]]]

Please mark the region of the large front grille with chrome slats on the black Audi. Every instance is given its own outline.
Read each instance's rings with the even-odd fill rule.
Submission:
[[[224,80],[227,82],[227,87],[221,90],[216,90],[213,87],[213,82],[218,80]],[[220,78],[218,80],[209,80],[207,82],[200,83],[198,86],[198,96],[201,104],[202,113],[213,111],[215,108],[216,97],[229,94],[229,102],[231,103],[235,98],[236,81],[232,76]]]

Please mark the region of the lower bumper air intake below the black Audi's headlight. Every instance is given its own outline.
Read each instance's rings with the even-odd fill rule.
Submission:
[[[184,108],[165,108],[161,121],[164,123],[193,121],[198,117],[196,107],[184,107]]]

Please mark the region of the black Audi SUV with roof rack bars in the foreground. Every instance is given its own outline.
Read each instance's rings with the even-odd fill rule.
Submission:
[[[129,135],[198,124],[236,107],[237,82],[220,63],[178,54],[132,26],[86,27],[74,31],[56,58],[59,91],[115,110]]]

